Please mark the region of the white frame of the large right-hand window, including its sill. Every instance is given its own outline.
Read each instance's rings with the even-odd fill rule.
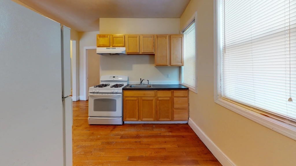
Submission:
[[[248,118],[256,123],[259,123],[267,128],[270,128],[271,130],[274,130],[282,135],[285,135],[291,139],[296,140],[296,126],[284,123],[282,121],[276,120],[275,118],[268,117],[266,115],[263,115],[261,113],[255,112],[252,110],[252,108],[243,107],[243,104],[240,105],[239,103],[230,102],[229,100],[225,100],[222,98],[222,92],[221,92],[221,75],[222,75],[222,65],[221,65],[221,53],[219,53],[218,46],[221,44],[219,42],[218,37],[218,26],[220,25],[220,21],[218,19],[218,13],[220,11],[218,8],[218,1],[221,0],[215,0],[213,4],[213,14],[214,14],[214,102],[235,112],[239,115],[244,116],[245,118]]]

